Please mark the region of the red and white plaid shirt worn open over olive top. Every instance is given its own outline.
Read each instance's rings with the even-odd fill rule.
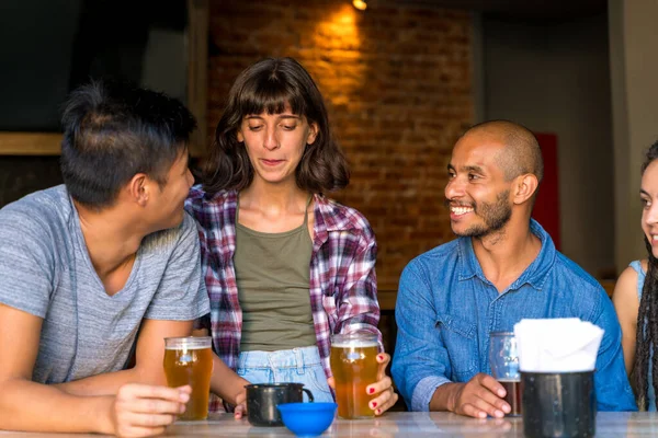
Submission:
[[[192,187],[185,209],[198,226],[202,272],[211,298],[213,346],[232,370],[238,365],[242,310],[234,267],[238,194],[223,191],[214,196],[200,185]],[[355,209],[315,195],[315,224],[310,258],[310,307],[317,346],[327,377],[330,336],[333,333],[375,333],[379,322],[375,260],[377,245],[367,220]],[[212,403],[211,411],[219,404]]]

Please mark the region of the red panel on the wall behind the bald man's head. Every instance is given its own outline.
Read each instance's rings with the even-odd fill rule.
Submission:
[[[557,135],[535,132],[544,158],[544,180],[535,203],[532,217],[544,227],[560,249],[559,240],[559,193],[557,181]]]

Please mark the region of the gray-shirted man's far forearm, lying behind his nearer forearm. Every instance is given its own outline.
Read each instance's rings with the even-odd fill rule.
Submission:
[[[161,370],[134,367],[127,370],[58,383],[55,387],[71,395],[115,395],[118,389],[126,383],[166,385],[167,379]]]

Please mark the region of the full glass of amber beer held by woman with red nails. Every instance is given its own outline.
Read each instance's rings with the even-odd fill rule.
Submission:
[[[365,392],[377,381],[377,335],[352,333],[331,336],[331,372],[336,381],[336,402],[341,418],[370,418],[375,415]]]

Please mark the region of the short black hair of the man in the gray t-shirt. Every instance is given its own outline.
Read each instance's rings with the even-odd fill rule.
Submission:
[[[97,209],[111,206],[137,173],[163,186],[196,127],[180,101],[102,80],[71,92],[61,124],[64,182],[75,200]]]

